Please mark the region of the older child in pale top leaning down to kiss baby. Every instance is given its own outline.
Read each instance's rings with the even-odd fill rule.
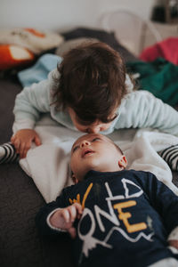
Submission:
[[[0,148],[0,162],[16,158],[15,150],[25,158],[32,142],[41,145],[34,126],[44,112],[84,133],[152,127],[178,135],[177,111],[151,93],[133,88],[124,61],[109,45],[85,43],[71,49],[48,79],[17,95],[12,143]]]

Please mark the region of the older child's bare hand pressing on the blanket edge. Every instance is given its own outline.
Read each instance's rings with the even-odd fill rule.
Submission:
[[[26,158],[28,150],[31,148],[31,143],[35,142],[36,146],[41,145],[39,135],[33,129],[22,129],[14,134],[11,138],[16,152],[20,154],[20,158]]]

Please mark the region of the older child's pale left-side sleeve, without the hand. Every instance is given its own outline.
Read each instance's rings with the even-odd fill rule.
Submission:
[[[24,87],[17,95],[13,113],[15,122],[13,132],[20,129],[33,129],[40,113],[49,112],[53,102],[53,89],[57,85],[60,73],[51,71],[46,80]]]

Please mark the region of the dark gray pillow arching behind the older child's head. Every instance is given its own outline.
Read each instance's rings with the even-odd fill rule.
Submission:
[[[61,35],[65,38],[66,41],[81,37],[94,39],[96,38],[114,48],[118,53],[121,54],[125,62],[138,61],[138,58],[136,58],[133,53],[130,53],[125,48],[125,46],[118,43],[114,32],[107,32],[106,30],[99,28],[74,28],[72,30],[61,33]]]

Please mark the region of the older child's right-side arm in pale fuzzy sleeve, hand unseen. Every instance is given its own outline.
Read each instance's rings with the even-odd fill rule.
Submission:
[[[151,127],[178,136],[178,112],[150,92],[128,93],[118,113],[116,129]]]

